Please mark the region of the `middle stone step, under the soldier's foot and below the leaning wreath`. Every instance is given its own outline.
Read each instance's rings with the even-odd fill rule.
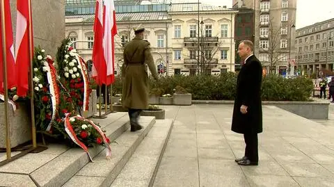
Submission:
[[[141,131],[130,132],[128,129],[115,140],[115,143],[111,143],[111,159],[106,159],[104,149],[93,158],[93,162],[87,163],[63,186],[110,186],[152,128],[155,117],[142,116],[139,123],[144,127]]]

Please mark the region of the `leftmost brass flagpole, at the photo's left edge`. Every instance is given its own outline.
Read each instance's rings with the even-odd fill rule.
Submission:
[[[6,124],[6,155],[7,159],[10,160],[11,156],[11,147],[10,147],[10,126],[8,120],[8,85],[7,85],[7,54],[6,54],[6,20],[5,20],[5,4],[1,0],[1,29],[2,29],[2,55],[3,55],[3,92],[4,92],[4,111],[5,111],[5,124]]]

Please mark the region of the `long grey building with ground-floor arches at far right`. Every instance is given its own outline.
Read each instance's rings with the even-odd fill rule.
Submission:
[[[333,72],[334,18],[296,30],[296,66],[301,74]]]

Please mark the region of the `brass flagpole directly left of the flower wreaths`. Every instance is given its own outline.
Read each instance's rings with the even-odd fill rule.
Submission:
[[[35,106],[33,104],[33,38],[32,38],[32,25],[31,25],[31,0],[28,0],[28,7],[29,7],[29,60],[30,60],[30,71],[29,71],[29,78],[30,78],[30,106],[31,106],[31,138],[33,139],[33,148],[37,147],[36,143],[36,128],[35,128]]]

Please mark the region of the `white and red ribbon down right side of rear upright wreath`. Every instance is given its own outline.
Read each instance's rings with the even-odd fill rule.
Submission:
[[[88,99],[89,99],[89,80],[87,75],[87,68],[84,63],[84,60],[78,55],[75,55],[75,58],[77,59],[77,62],[79,63],[79,69],[81,70],[81,76],[84,80],[84,105],[83,105],[83,111],[88,111]]]

